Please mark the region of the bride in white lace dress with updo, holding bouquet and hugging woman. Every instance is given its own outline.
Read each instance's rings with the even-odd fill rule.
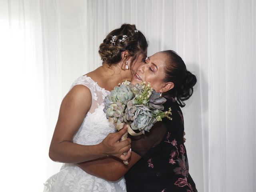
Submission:
[[[44,183],[45,192],[126,191],[124,178],[110,182],[84,172],[77,164],[110,155],[130,158],[131,140],[119,142],[127,128],[114,133],[114,125],[103,112],[103,101],[118,83],[131,80],[132,71],[138,68],[132,64],[146,58],[147,47],[145,36],[130,24],[113,30],[100,44],[102,66],[75,80],[60,106],[49,156],[64,164]]]

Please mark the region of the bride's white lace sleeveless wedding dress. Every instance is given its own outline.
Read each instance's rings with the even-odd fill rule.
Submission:
[[[92,106],[74,136],[73,142],[82,145],[98,144],[109,133],[116,130],[114,125],[108,122],[106,114],[103,112],[103,101],[108,91],[98,86],[88,76],[79,77],[71,88],[78,84],[90,89]],[[126,192],[124,178],[116,182],[109,182],[84,172],[75,164],[68,163],[64,163],[60,172],[51,176],[44,186],[44,192]]]

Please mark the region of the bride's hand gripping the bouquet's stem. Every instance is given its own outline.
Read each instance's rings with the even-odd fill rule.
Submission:
[[[123,161],[128,160],[131,156],[131,139],[127,138],[124,141],[119,141],[126,131],[127,126],[124,126],[120,131],[108,134],[108,136],[99,144],[102,153],[106,156],[115,156]],[[123,155],[124,152],[128,152],[127,155]]]

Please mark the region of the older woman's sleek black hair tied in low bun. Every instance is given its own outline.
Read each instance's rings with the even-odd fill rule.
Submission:
[[[189,72],[182,58],[172,50],[162,51],[169,57],[165,65],[164,82],[173,82],[174,88],[163,93],[165,97],[176,98],[178,105],[184,107],[185,100],[193,94],[193,86],[196,84],[196,76]]]

